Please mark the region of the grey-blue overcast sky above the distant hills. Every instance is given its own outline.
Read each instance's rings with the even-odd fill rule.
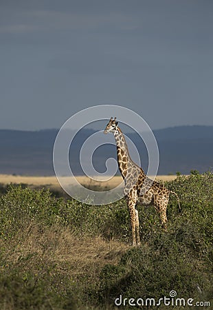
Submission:
[[[212,17],[212,0],[1,0],[0,128],[101,104],[152,129],[213,125]]]

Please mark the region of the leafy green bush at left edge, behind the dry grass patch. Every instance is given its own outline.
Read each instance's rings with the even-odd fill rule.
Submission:
[[[1,196],[0,231],[4,238],[12,237],[27,223],[36,220],[44,225],[63,221],[65,203],[52,198],[47,190],[32,190],[21,186],[10,186]]]

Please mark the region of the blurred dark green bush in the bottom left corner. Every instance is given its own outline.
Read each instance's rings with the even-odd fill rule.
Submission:
[[[51,276],[54,266],[46,266],[43,269],[45,273],[40,276],[29,268],[26,270],[27,260],[29,262],[30,258],[25,258],[25,263],[5,267],[1,272],[1,309],[77,309],[74,296],[58,291],[56,283],[61,279],[61,275]],[[64,285],[69,287],[69,282],[65,282]]]

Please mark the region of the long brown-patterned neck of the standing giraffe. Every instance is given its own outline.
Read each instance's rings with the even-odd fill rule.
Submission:
[[[128,154],[128,147],[126,145],[126,140],[124,138],[124,134],[117,127],[117,130],[113,133],[115,137],[115,142],[117,145],[117,163],[120,169],[120,173],[123,178],[126,178],[127,169],[129,164],[133,163],[130,155]]]

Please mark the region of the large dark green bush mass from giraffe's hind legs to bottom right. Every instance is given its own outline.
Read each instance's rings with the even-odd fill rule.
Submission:
[[[178,214],[177,200],[170,199],[168,232],[159,228],[153,209],[139,207],[142,245],[126,251],[116,268],[107,265],[102,270],[103,304],[112,304],[120,295],[159,300],[172,290],[180,298],[212,302],[212,181],[208,172],[166,184],[177,192],[182,208]]]

